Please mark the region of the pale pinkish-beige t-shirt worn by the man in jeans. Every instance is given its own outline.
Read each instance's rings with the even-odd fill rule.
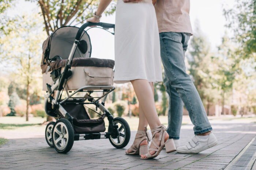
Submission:
[[[187,32],[192,34],[189,0],[157,0],[155,12],[159,32]]]

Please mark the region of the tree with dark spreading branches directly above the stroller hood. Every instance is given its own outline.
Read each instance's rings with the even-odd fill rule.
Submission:
[[[37,2],[44,18],[47,35],[64,25],[80,24],[93,16],[98,7],[99,0],[29,0]],[[111,3],[105,14],[115,11],[115,2]]]

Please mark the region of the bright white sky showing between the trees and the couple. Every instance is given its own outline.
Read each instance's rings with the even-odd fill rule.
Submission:
[[[191,0],[190,18],[192,28],[195,28],[195,21],[199,21],[200,29],[207,41],[211,44],[211,51],[216,51],[217,46],[221,45],[222,36],[224,35],[225,17],[223,16],[223,7],[232,8],[235,0]],[[29,9],[29,10],[28,10]],[[15,12],[37,11],[35,3],[20,0],[16,4]],[[12,11],[13,12],[13,11]],[[15,13],[14,12],[14,13]],[[101,22],[115,23],[115,13],[110,16],[102,16]],[[79,26],[79,25],[78,25]],[[111,30],[110,30],[111,31]],[[91,57],[114,59],[114,36],[102,29],[93,28],[88,31],[91,37],[92,55]]]

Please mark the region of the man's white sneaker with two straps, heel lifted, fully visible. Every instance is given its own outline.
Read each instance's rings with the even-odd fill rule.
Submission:
[[[217,144],[218,140],[213,133],[210,133],[207,139],[200,139],[195,135],[186,145],[177,147],[177,152],[196,154]]]

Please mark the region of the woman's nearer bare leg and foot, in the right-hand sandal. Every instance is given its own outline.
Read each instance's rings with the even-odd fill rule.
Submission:
[[[150,129],[153,129],[156,126],[161,126],[161,122],[157,115],[157,110],[155,108],[154,95],[152,92],[152,84],[148,84],[147,80],[144,79],[136,79],[131,80],[132,86],[136,93],[136,96],[139,100],[140,105],[142,106],[142,110],[147,119],[147,122],[150,126]],[[160,145],[161,141],[158,141],[159,133],[155,134],[154,140],[158,145]],[[165,139],[167,140],[169,135],[166,133]],[[150,145],[151,148],[156,148],[153,143]],[[155,151],[150,151],[150,154],[153,155]],[[145,157],[145,156],[143,156]]]

